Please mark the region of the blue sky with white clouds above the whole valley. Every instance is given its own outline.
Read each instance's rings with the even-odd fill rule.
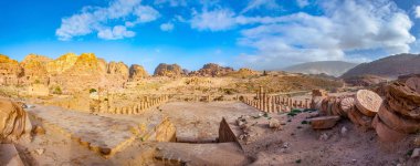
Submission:
[[[420,0],[1,0],[0,53],[279,70],[420,52]]]

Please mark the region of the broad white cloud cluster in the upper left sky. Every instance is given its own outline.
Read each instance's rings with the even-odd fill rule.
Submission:
[[[132,38],[135,33],[127,28],[154,21],[159,17],[158,11],[141,6],[140,2],[140,0],[114,0],[106,8],[85,7],[81,12],[63,18],[55,35],[63,41],[91,33],[97,33],[97,37],[108,40]],[[125,25],[112,28],[109,22],[120,22]]]

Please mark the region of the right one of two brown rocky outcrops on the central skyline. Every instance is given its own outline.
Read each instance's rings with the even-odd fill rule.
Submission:
[[[233,72],[234,70],[232,68],[224,68],[220,66],[216,63],[208,63],[202,66],[202,69],[198,70],[197,72],[193,72],[192,75],[196,76],[222,76],[228,73]]]

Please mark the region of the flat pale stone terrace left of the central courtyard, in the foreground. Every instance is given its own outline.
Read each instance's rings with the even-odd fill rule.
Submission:
[[[166,142],[175,134],[174,125],[156,114],[153,117],[101,116],[41,105],[28,112],[46,132],[61,133],[104,157],[123,151],[136,138]]]

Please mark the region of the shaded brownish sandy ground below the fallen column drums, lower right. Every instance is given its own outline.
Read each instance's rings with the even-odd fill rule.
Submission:
[[[419,159],[409,159],[407,155],[414,148],[413,135],[401,143],[382,143],[375,131],[365,132],[348,120],[342,120],[332,129],[314,131],[309,124],[302,124],[311,114],[314,113],[280,118],[269,114],[286,125],[283,131],[267,129],[267,123],[256,125],[254,131],[265,133],[243,144],[245,154],[254,159],[252,165],[420,165]]]

